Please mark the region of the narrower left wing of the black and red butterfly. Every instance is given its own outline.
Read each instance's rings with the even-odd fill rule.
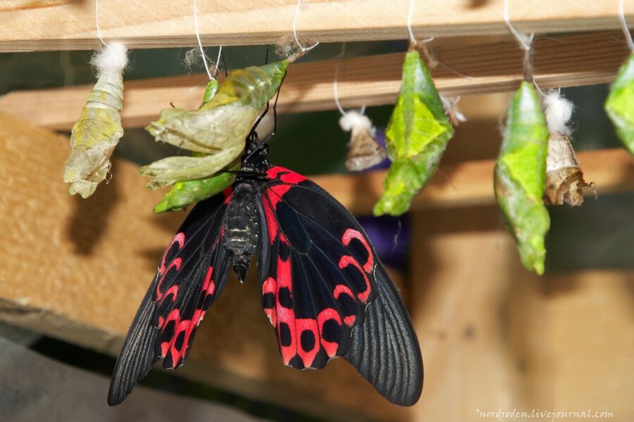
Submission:
[[[117,359],[111,406],[122,402],[158,359],[173,369],[187,358],[199,322],[228,278],[222,226],[231,192],[198,203],[161,257]]]

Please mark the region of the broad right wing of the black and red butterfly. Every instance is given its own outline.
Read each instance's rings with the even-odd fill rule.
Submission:
[[[285,364],[344,357],[381,395],[416,403],[421,350],[411,319],[359,222],[335,198],[282,167],[259,200],[264,311]]]

